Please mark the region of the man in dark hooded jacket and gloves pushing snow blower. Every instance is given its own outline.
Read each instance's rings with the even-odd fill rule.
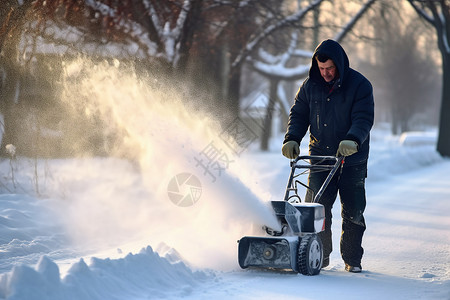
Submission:
[[[345,270],[355,273],[362,270],[365,178],[373,118],[372,85],[349,67],[347,54],[340,44],[323,41],[314,51],[309,77],[295,97],[282,147],[284,156],[296,158],[300,154],[300,142],[309,129],[311,155],[345,156],[342,170],[334,176],[320,200],[325,207],[325,230],[319,234],[323,242],[323,267],[328,266],[332,251],[331,211],[339,192],[340,248]],[[327,175],[328,172],[309,175],[308,184],[314,193]],[[308,190],[306,201],[312,202],[313,198]]]

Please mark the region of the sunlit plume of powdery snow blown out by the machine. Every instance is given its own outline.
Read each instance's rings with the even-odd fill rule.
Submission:
[[[63,101],[99,119],[114,133],[109,147],[133,158],[77,159],[55,170],[75,241],[97,249],[164,243],[195,266],[231,269],[237,239],[278,227],[263,193],[244,184],[250,172],[230,150],[236,144],[187,107],[180,83],[152,83],[118,61],[79,59],[65,71]]]

